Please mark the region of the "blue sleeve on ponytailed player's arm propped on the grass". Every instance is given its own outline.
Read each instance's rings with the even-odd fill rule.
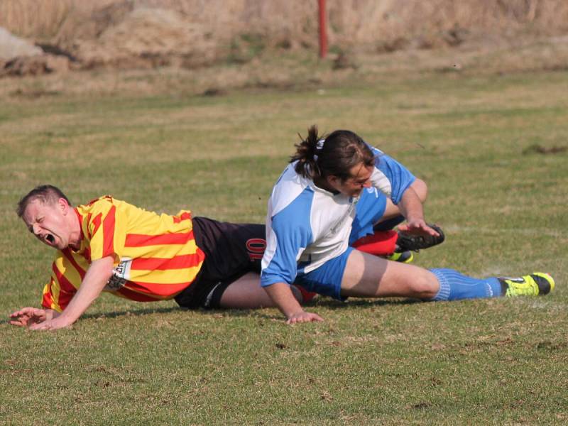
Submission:
[[[266,251],[262,260],[261,286],[292,284],[297,275],[297,261],[312,242],[310,226],[311,196],[300,195],[267,221]]]

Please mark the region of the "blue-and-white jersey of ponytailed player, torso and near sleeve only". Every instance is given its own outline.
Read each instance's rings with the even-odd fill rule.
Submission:
[[[261,285],[294,282],[347,249],[358,199],[317,187],[288,165],[268,200]]]

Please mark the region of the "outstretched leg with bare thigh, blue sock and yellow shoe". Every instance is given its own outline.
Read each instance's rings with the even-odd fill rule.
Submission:
[[[521,278],[471,278],[452,269],[432,269],[386,261],[352,251],[342,278],[342,296],[415,297],[421,300],[461,300],[503,295],[545,295],[555,286],[543,273]]]

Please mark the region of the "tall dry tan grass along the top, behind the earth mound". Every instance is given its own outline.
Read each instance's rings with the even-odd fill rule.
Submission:
[[[503,32],[530,24],[546,33],[568,28],[564,0],[328,0],[327,4],[330,36],[337,43],[373,43],[456,26]],[[4,0],[0,25],[33,38],[96,38],[139,7],[180,13],[219,40],[253,31],[270,40],[313,43],[311,35],[317,31],[315,0]]]

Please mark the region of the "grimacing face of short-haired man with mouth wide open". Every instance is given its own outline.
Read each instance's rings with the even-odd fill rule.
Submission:
[[[33,200],[26,207],[22,219],[37,239],[62,250],[70,243],[70,227],[66,220],[70,212],[69,204],[62,198],[54,204],[42,204],[39,200]]]

